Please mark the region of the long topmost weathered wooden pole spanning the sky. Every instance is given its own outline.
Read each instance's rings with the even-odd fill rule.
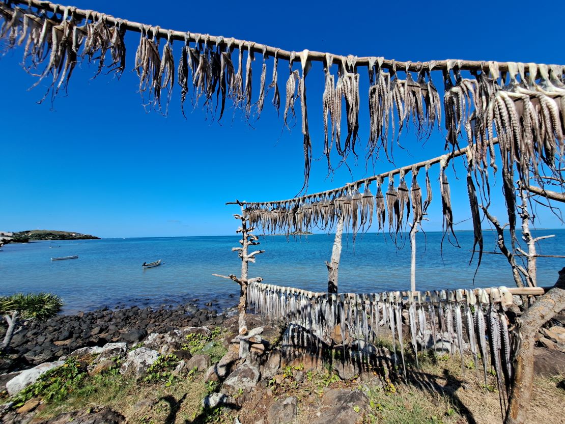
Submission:
[[[12,3],[30,6],[30,7],[37,7],[41,8],[42,10],[48,11],[58,11],[62,12],[65,8],[71,8],[72,6],[60,6],[56,5],[55,3],[51,3],[48,1],[41,1],[41,0],[12,0]],[[86,16],[90,16],[92,19],[98,19],[100,16],[104,16],[106,19],[107,25],[116,25],[121,24],[121,28],[128,29],[129,31],[134,32],[142,32],[147,31],[151,34],[159,38],[167,39],[169,36],[172,40],[179,40],[179,41],[203,41],[206,37],[208,40],[208,44],[210,45],[227,45],[228,40],[233,43],[233,45],[240,46],[242,50],[251,50],[254,53],[263,54],[263,51],[268,55],[273,57],[275,54],[277,58],[290,60],[290,58],[294,58],[296,52],[282,50],[277,47],[267,46],[264,44],[260,44],[258,42],[248,42],[245,40],[238,40],[236,38],[224,38],[220,36],[211,36],[208,34],[198,34],[198,33],[190,33],[190,32],[182,32],[182,31],[172,31],[171,29],[164,29],[159,27],[151,27],[151,25],[146,25],[134,21],[128,21],[123,19],[116,19],[114,16],[105,15],[100,12],[96,11],[88,11],[79,8],[72,7],[73,16],[76,18],[85,18]],[[327,53],[323,53],[321,51],[308,51],[308,60],[312,60],[315,62],[325,62],[327,60]],[[346,56],[342,55],[331,55],[330,57],[333,58],[333,63],[341,64],[344,60],[347,59]],[[356,66],[368,66],[370,60],[374,60],[376,57],[358,57],[356,59]],[[489,63],[496,63],[499,71],[508,71],[508,62],[485,62],[483,60],[453,60],[453,59],[445,59],[445,60],[429,60],[427,62],[418,62],[418,61],[408,61],[408,62],[400,62],[394,59],[384,59],[382,60],[381,68],[388,69],[388,70],[398,70],[398,71],[412,71],[418,72],[420,70],[446,70],[449,67],[457,66],[461,70],[488,70]],[[526,67],[529,69],[528,64]],[[536,67],[537,72],[537,67]]]

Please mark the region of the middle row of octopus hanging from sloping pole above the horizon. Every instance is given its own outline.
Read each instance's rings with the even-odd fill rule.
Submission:
[[[447,155],[446,157],[447,158]],[[451,191],[447,180],[447,160],[439,162],[439,191],[443,213],[444,234],[450,235],[457,243],[454,232],[454,217],[451,208]],[[378,231],[388,231],[394,235],[393,240],[411,226],[419,225],[427,214],[432,202],[432,181],[429,175],[429,165],[425,168],[425,198],[422,188],[418,183],[420,168],[408,168],[411,178],[408,179],[410,187],[406,183],[405,168],[399,172],[398,184],[394,175],[388,175],[388,183],[384,184],[382,176],[367,179],[357,184],[349,184],[345,187],[333,189],[308,196],[297,197],[285,201],[273,201],[263,203],[245,204],[245,213],[249,222],[259,228],[263,233],[286,235],[292,233],[303,233],[313,228],[331,230],[336,227],[338,220],[344,220],[344,226],[355,235],[359,231],[368,230],[373,224],[373,216],[376,214],[376,227]],[[371,191],[371,184],[375,183],[375,194]],[[479,263],[483,252],[483,232],[479,215],[479,200],[473,179],[467,179],[467,194],[471,206],[471,217],[474,228],[474,245],[479,246]],[[488,202],[485,194],[485,203]],[[509,211],[510,214],[510,211]],[[511,231],[514,230],[515,222],[511,223]],[[374,227],[373,227],[374,228]]]

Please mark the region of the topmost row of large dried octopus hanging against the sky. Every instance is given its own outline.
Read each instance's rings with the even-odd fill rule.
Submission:
[[[70,6],[56,6],[54,12],[49,12],[41,8],[41,3],[34,2],[35,8],[32,2],[27,8],[15,6],[15,3],[18,2],[0,3],[0,39],[5,41],[6,49],[24,46],[23,67],[38,76],[34,86],[44,79],[49,80],[45,97],[51,94],[54,98],[61,90],[67,90],[77,63],[93,63],[95,76],[103,70],[119,76],[126,69],[127,21],[93,11],[87,11],[86,16],[79,15],[77,9]],[[279,112],[282,105],[279,49],[263,46],[257,51],[252,41],[224,37],[212,37],[212,41],[208,34],[187,32],[175,64],[173,41],[179,38],[178,34],[149,25],[141,28],[133,69],[140,77],[139,91],[146,107],[166,114],[176,81],[181,89],[183,113],[185,98],[192,92],[194,107],[200,105],[217,120],[224,114],[227,99],[234,110],[243,111],[245,119],[258,119],[269,91],[271,103]],[[268,51],[274,51],[270,83],[267,80]],[[256,53],[262,54],[258,90],[253,84]],[[357,155],[362,102],[358,62],[353,55],[344,58],[325,55],[325,88],[321,101],[324,154],[330,170],[333,150],[342,159],[352,152]],[[365,62],[363,66],[367,66]],[[462,71],[462,62],[448,60],[447,67],[441,69],[442,99],[431,76],[436,62],[426,62],[425,66],[418,62],[415,72],[408,70],[410,62],[404,69],[397,69],[394,60],[392,67],[383,67],[383,62],[382,57],[368,60],[370,86],[364,101],[368,103],[369,115],[368,158],[379,157],[382,148],[384,157],[392,161],[394,139],[398,144],[399,136],[410,123],[420,139],[428,139],[433,128],[441,126],[443,103],[445,148],[455,148],[460,140],[467,140],[473,145],[471,168],[496,167],[493,147],[496,136],[503,171],[512,174],[516,163],[519,178],[524,183],[528,167],[537,180],[546,171],[557,174],[559,168],[563,168],[565,66],[510,62],[508,70],[500,72],[497,62],[484,62],[480,71],[471,71],[464,77],[463,72],[467,71]],[[334,64],[337,64],[337,73],[332,72]],[[282,89],[285,97],[282,120],[283,126],[290,128],[295,117],[295,102],[299,100],[306,187],[312,159],[306,106],[306,76],[312,66],[308,50],[291,52],[288,66],[289,76]],[[254,90],[258,93],[256,97]],[[167,93],[164,105],[163,92]],[[344,105],[345,110],[342,110]],[[346,121],[345,137],[341,131],[342,120]],[[560,165],[556,165],[556,161]],[[513,175],[508,178],[512,181]]]

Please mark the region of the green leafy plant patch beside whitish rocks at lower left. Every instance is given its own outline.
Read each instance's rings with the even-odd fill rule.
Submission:
[[[15,395],[12,398],[13,407],[18,408],[33,397],[40,397],[45,403],[62,401],[79,388],[86,375],[84,366],[75,358],[69,358],[62,366],[50,369],[31,386]]]

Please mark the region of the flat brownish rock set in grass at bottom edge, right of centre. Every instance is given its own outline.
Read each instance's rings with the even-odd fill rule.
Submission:
[[[321,409],[324,413],[310,424],[358,424],[370,410],[369,398],[358,390],[329,390],[323,397]]]

